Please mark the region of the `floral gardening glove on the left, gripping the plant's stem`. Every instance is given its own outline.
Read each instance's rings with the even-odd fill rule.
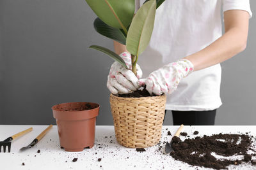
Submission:
[[[121,53],[120,57],[122,57],[129,69],[126,69],[119,62],[115,61],[109,71],[107,87],[113,94],[128,94],[140,88],[138,78],[141,78],[142,71],[138,64],[136,65],[137,76],[131,71],[132,65],[130,53]]]

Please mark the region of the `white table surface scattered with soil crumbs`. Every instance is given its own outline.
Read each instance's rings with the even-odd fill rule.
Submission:
[[[0,153],[0,169],[204,169],[202,167],[189,166],[184,162],[174,160],[163,152],[163,141],[169,140],[167,132],[172,134],[177,131],[177,126],[164,126],[161,138],[163,148],[159,151],[159,145],[146,148],[146,152],[136,152],[134,148],[125,148],[119,145],[115,139],[113,126],[97,126],[95,134],[95,146],[84,149],[83,152],[65,152],[60,148],[56,125],[35,146],[19,152],[22,146],[26,146],[47,125],[0,125],[0,141],[13,134],[33,127],[33,131],[12,142],[10,153]],[[166,130],[168,129],[168,130]],[[183,132],[187,132],[189,138],[195,138],[194,131],[199,131],[197,136],[210,134],[250,132],[256,136],[256,126],[184,126]],[[106,136],[108,138],[106,138]],[[110,138],[111,136],[111,138]],[[180,137],[182,140],[185,137]],[[255,141],[254,141],[255,143]],[[102,147],[102,148],[101,148]],[[40,150],[40,153],[37,153]],[[96,154],[97,153],[97,154]],[[77,158],[77,162],[72,162]],[[102,160],[99,162],[98,159]],[[256,159],[253,157],[253,159]],[[22,162],[25,166],[22,166]],[[100,167],[101,166],[101,167]],[[205,168],[206,169],[206,168]],[[256,169],[256,166],[242,164],[230,166],[228,169]]]

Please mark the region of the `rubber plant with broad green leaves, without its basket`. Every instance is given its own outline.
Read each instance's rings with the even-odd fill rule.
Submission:
[[[135,0],[86,0],[98,18],[93,25],[99,34],[126,45],[132,56],[132,72],[136,75],[138,56],[147,47],[156,15],[156,9],[164,0],[147,0],[134,15]],[[103,46],[89,48],[104,52],[127,68],[124,60]]]

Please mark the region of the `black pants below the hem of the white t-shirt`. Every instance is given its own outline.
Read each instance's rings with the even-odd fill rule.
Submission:
[[[215,116],[216,116],[216,110],[209,110],[209,111],[173,111],[172,110],[173,125],[181,125],[181,124],[214,125]]]

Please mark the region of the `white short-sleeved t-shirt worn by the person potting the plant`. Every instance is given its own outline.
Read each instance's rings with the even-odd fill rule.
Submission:
[[[137,6],[145,0],[137,1]],[[140,4],[138,4],[140,3]],[[138,59],[143,78],[159,67],[202,50],[221,36],[221,12],[245,10],[249,0],[166,0],[157,8],[150,43]],[[207,56],[205,56],[207,57]],[[221,66],[195,71],[167,96],[166,110],[214,110],[221,106]]]

